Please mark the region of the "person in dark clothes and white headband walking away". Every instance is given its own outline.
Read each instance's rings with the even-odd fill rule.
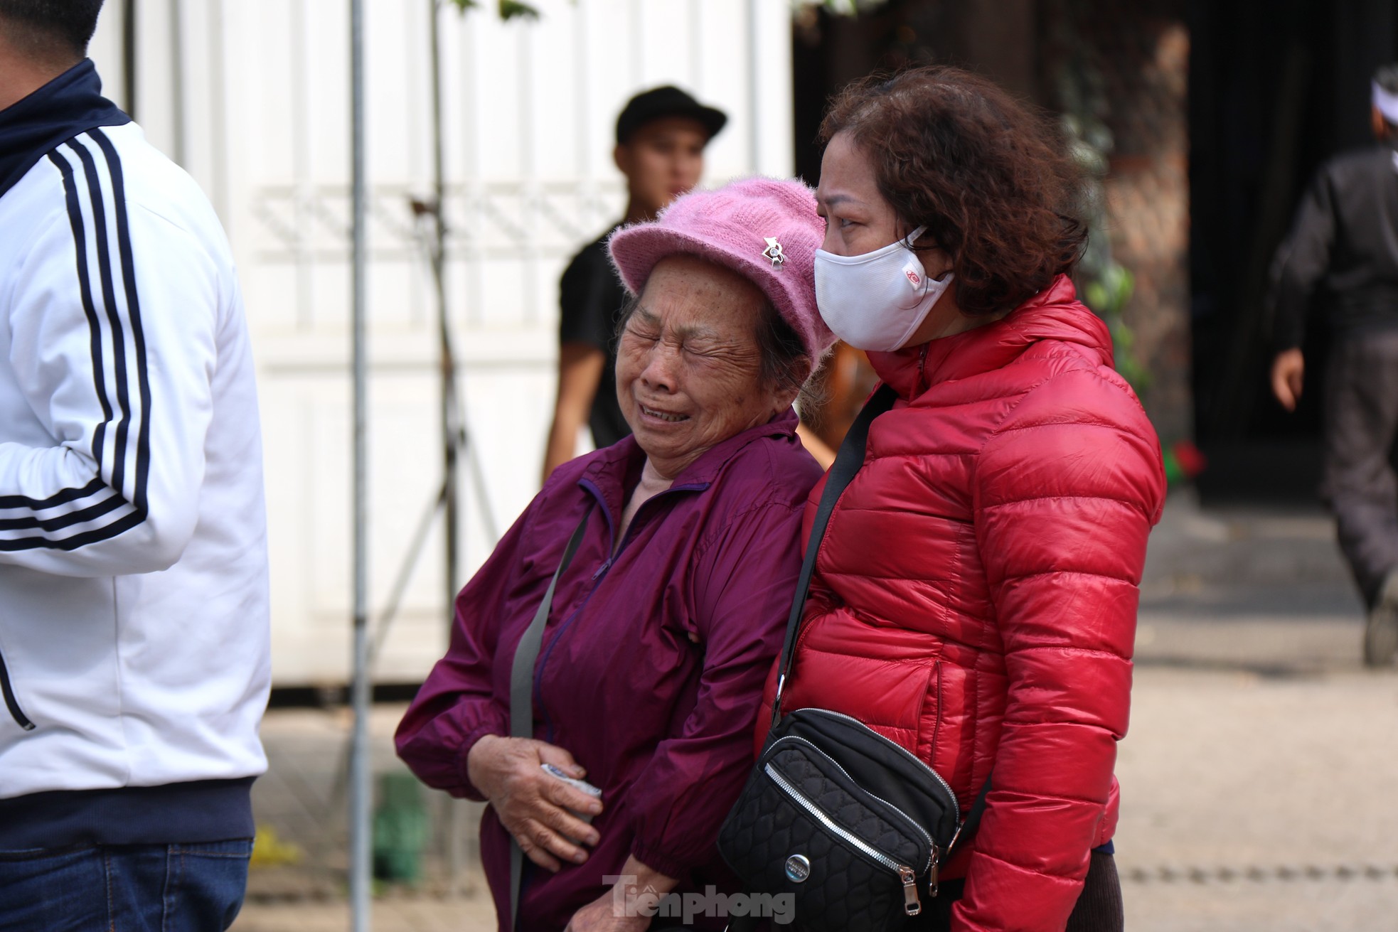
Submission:
[[[1321,166],[1272,263],[1272,393],[1296,409],[1306,310],[1324,291],[1321,496],[1369,609],[1364,662],[1385,667],[1398,653],[1398,64],[1378,68],[1370,92],[1376,144]]]

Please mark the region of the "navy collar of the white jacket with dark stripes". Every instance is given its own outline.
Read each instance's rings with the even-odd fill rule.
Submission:
[[[0,197],[59,144],[131,117],[102,96],[92,59],[82,59],[29,96],[0,110]]]

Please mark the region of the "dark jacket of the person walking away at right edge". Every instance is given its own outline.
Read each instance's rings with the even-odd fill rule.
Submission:
[[[1398,328],[1398,150],[1345,152],[1320,168],[1272,260],[1278,351],[1300,347],[1317,288],[1336,337]]]

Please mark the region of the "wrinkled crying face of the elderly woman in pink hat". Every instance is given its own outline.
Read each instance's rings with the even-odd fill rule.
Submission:
[[[650,272],[617,349],[617,397],[663,476],[791,404],[762,384],[765,303],[747,278],[692,256]]]

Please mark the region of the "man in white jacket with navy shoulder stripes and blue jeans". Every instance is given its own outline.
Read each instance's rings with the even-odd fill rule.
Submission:
[[[0,929],[226,929],[270,686],[228,240],[102,96],[101,0],[0,0]]]

